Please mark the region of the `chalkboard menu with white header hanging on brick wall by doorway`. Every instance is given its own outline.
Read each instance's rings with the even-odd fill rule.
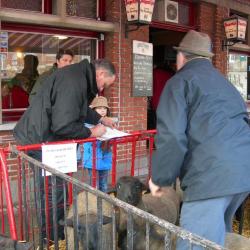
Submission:
[[[153,45],[133,41],[133,96],[152,96]]]

